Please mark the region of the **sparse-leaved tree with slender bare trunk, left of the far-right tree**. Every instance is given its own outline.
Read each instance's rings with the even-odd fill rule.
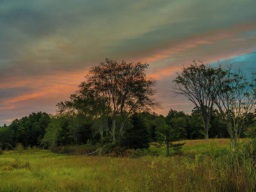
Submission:
[[[196,108],[200,109],[204,122],[205,139],[208,139],[209,120],[212,114],[214,99],[218,93],[216,76],[221,74],[221,67],[213,68],[209,65],[198,65],[193,61],[188,67],[181,67],[177,73],[175,93],[185,96]],[[217,86],[218,87],[218,86]]]

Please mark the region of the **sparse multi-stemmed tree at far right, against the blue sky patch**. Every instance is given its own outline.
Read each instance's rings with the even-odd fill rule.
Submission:
[[[256,76],[253,73],[250,82],[240,69],[225,70],[225,76],[218,77],[221,90],[215,97],[221,121],[227,126],[230,143],[235,145],[241,130],[256,112]],[[252,118],[251,118],[252,119]]]

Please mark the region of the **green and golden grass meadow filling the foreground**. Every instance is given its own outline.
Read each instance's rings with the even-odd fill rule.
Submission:
[[[6,151],[0,155],[0,191],[254,190],[253,163],[230,156],[228,139],[186,141],[182,151],[138,158]]]

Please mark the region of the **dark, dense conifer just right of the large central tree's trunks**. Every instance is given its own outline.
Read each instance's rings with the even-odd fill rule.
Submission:
[[[148,148],[151,140],[150,131],[140,114],[134,113],[131,116],[131,124],[125,133],[124,145],[134,149]]]

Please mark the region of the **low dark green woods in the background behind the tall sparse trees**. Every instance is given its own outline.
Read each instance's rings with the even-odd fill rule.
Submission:
[[[170,110],[167,116],[156,113],[142,112],[134,114],[129,119],[130,127],[125,137],[118,142],[129,148],[145,148],[148,143],[162,142],[157,132],[163,125],[168,125],[178,135],[178,139],[204,139],[204,124],[200,113],[194,110],[191,115],[183,111]],[[111,121],[108,122],[111,125]],[[76,133],[73,126],[77,125]],[[135,128],[134,128],[135,127]],[[245,131],[245,130],[244,130]],[[119,137],[119,130],[116,130]],[[215,111],[210,120],[209,137],[229,137],[227,129],[218,119]],[[51,116],[47,113],[32,113],[21,119],[15,119],[9,126],[0,128],[0,145],[2,149],[15,148],[17,143],[24,147],[40,146],[48,148],[49,145],[76,145],[110,142],[105,135],[102,139],[93,128],[93,119],[76,116],[70,119],[67,116]]]

